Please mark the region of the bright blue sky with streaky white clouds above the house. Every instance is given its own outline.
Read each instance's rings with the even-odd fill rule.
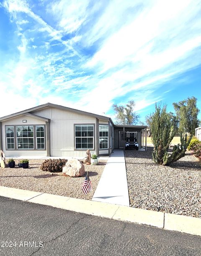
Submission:
[[[189,96],[201,109],[200,13],[200,0],[0,0],[1,116],[50,102],[113,118],[134,100],[144,121]]]

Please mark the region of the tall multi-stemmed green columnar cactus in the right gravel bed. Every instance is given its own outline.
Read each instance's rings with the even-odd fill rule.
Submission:
[[[168,152],[169,146],[175,136],[174,121],[170,113],[167,112],[167,105],[162,108],[155,104],[155,113],[151,115],[152,143],[154,151],[153,160],[156,164],[168,165],[185,156],[186,148],[191,141],[187,141],[187,135],[180,137],[181,144],[173,147],[173,153]]]

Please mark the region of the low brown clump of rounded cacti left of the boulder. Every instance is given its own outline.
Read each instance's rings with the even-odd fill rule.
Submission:
[[[66,159],[47,159],[45,160],[40,169],[46,172],[62,172],[63,166],[66,164]]]

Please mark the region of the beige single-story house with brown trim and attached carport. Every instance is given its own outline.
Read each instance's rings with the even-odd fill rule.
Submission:
[[[110,155],[126,136],[146,150],[147,126],[115,125],[111,118],[46,103],[0,118],[0,148],[7,157]]]

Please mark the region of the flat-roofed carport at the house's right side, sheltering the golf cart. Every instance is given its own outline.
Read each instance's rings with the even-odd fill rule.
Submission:
[[[147,150],[147,126],[114,125],[114,148],[124,148],[126,137],[135,138],[139,144],[139,150]]]

